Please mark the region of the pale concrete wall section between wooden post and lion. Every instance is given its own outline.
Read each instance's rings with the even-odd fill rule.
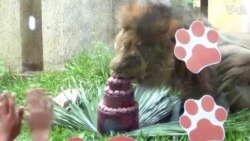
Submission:
[[[45,70],[61,68],[97,41],[112,45],[111,0],[43,0],[42,11]]]

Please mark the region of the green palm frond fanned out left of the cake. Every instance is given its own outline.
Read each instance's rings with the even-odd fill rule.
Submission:
[[[76,81],[73,81],[76,85]],[[98,87],[98,91],[101,91]],[[69,98],[69,106],[64,109],[55,104],[54,107],[54,123],[59,126],[83,129],[97,132],[97,104],[100,101],[99,92],[93,94],[93,91],[85,90],[82,83],[79,85],[79,98],[76,103],[73,103]],[[68,110],[69,109],[69,110]]]

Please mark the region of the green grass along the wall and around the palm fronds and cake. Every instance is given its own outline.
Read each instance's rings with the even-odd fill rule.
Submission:
[[[102,85],[108,78],[108,65],[111,59],[111,53],[101,42],[97,43],[95,51],[84,51],[79,56],[73,58],[65,65],[65,70],[61,72],[51,71],[41,74],[35,74],[32,77],[23,78],[12,75],[5,71],[0,73],[0,92],[8,90],[16,94],[18,105],[25,104],[25,91],[32,86],[39,86],[46,89],[49,95],[56,95],[62,89],[72,88],[77,83],[81,83],[86,89],[93,89]],[[86,141],[104,141],[107,136],[100,136],[90,131],[71,130],[54,126],[51,132],[52,141],[64,141],[70,137],[84,137]],[[233,132],[227,134],[227,141],[247,141],[249,133]],[[24,121],[22,133],[17,141],[30,141],[30,132],[27,123]],[[137,137],[137,141],[185,141],[187,136],[169,136],[169,137]]]

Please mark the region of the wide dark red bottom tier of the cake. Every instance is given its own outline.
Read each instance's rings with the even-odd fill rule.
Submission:
[[[139,128],[138,105],[133,111],[104,111],[98,108],[97,129],[101,134],[114,132],[129,132]]]

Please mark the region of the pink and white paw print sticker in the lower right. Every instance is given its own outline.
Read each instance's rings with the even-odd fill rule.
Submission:
[[[180,117],[181,127],[190,141],[223,141],[223,124],[227,111],[215,104],[214,99],[205,95],[200,100],[189,99],[184,104],[185,112]]]

